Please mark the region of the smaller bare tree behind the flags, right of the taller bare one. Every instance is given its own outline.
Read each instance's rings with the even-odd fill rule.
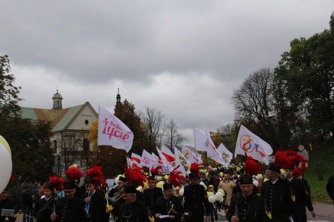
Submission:
[[[178,144],[187,141],[187,138],[178,132],[177,123],[174,119],[170,119],[167,122],[166,126],[166,146],[174,152],[174,146],[176,147]]]

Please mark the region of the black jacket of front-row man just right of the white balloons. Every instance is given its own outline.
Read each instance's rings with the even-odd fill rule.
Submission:
[[[264,208],[264,200],[256,194],[251,194],[248,197],[244,197],[242,193],[233,195],[226,219],[231,222],[232,216],[235,215],[239,218],[239,222],[269,222]]]

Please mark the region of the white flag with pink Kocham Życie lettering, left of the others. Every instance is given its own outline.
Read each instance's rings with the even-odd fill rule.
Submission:
[[[97,145],[110,145],[129,152],[134,134],[113,113],[99,106]]]

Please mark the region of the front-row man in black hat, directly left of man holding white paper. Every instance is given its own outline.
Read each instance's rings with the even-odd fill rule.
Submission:
[[[150,222],[149,213],[144,201],[136,199],[136,186],[125,185],[124,204],[120,206],[117,222]]]

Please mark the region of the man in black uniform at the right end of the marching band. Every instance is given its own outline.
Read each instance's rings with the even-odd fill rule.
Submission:
[[[312,217],[316,217],[316,213],[313,209],[311,197],[304,186],[302,180],[297,180],[294,178],[294,166],[285,169],[285,175],[287,180],[290,182],[292,201],[294,206],[294,221],[303,222],[303,214],[306,209],[305,206],[311,211]]]

